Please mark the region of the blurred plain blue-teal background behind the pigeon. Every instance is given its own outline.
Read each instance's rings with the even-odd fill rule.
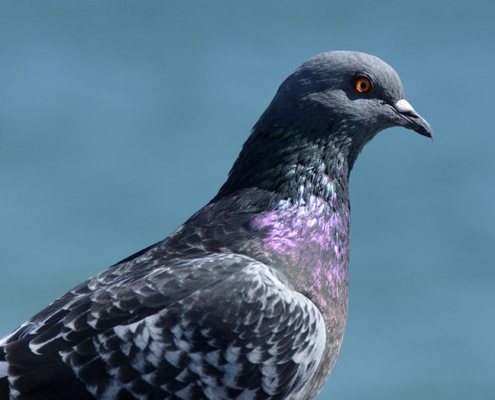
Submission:
[[[495,3],[0,5],[0,336],[214,196],[278,85],[328,50],[400,74],[431,141],[351,178],[351,298],[323,399],[493,399]]]

